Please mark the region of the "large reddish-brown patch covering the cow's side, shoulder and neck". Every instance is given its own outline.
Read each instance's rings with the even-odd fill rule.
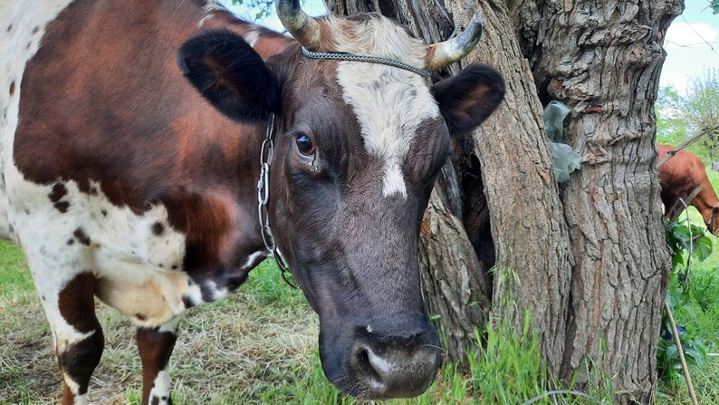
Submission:
[[[27,63],[11,147],[18,169],[34,183],[74,181],[82,193],[137,215],[164,205],[169,221],[163,225],[187,234],[187,270],[215,272],[241,267],[246,257],[235,252],[249,250],[245,245],[261,247],[252,213],[259,175],[254,151],[264,132],[225,118],[182,77],[175,58],[157,57],[175,54],[197,34],[202,3],[153,2],[118,14],[110,3],[72,2],[47,25],[43,46]],[[203,29],[257,29],[216,14],[222,18],[207,20]],[[127,30],[131,24],[138,29]],[[268,41],[260,43],[265,58],[285,43],[298,46],[281,34],[261,36]],[[129,54],[143,61],[141,74]],[[207,159],[216,149],[224,153]],[[84,232],[73,235],[90,244]]]

